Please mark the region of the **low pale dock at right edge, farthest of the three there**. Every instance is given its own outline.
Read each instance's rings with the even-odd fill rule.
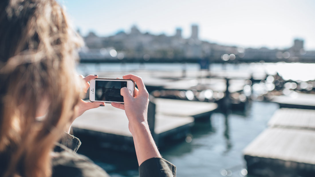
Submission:
[[[315,109],[315,94],[297,93],[289,96],[274,96],[271,102],[276,102],[281,108]]]

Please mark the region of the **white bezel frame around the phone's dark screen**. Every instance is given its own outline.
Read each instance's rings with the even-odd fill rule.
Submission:
[[[92,79],[90,80],[90,88],[89,88],[89,100],[90,102],[105,102],[105,103],[111,103],[113,101],[98,101],[95,100],[95,80],[108,80],[108,81],[121,81],[121,80],[126,80],[127,81],[127,88],[128,90],[131,90],[131,95],[133,97],[135,97],[135,81],[133,81],[132,79],[110,79],[110,78],[97,78],[97,79]],[[130,87],[130,83],[131,87]],[[91,99],[94,98],[94,99]],[[117,102],[117,103],[122,103],[124,104],[124,102]]]

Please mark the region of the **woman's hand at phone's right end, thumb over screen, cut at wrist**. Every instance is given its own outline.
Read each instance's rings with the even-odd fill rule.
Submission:
[[[127,87],[123,87],[120,90],[120,94],[123,96],[124,104],[112,102],[112,106],[125,110],[127,118],[129,120],[129,130],[133,134],[134,129],[140,124],[147,126],[147,111],[149,104],[149,93],[141,79],[136,75],[124,75],[123,79],[134,80],[139,88],[139,91],[135,89],[135,97],[133,97]]]

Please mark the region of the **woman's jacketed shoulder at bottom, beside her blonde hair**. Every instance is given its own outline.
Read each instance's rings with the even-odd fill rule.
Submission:
[[[109,175],[100,166],[93,163],[88,157],[74,153],[71,150],[52,152],[52,177],[108,177]]]

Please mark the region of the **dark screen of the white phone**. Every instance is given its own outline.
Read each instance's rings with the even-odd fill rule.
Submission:
[[[127,87],[127,81],[95,80],[95,101],[123,102],[123,87]]]

